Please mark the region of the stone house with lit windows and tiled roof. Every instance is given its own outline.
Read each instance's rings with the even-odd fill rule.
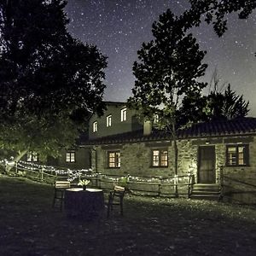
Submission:
[[[125,102],[107,105],[102,117],[90,119],[89,136],[77,148],[63,150],[57,165],[92,168],[106,176],[159,178],[163,194],[165,189],[172,194],[170,183],[193,175],[192,197],[224,195],[226,200],[256,203],[256,119],[211,121],[179,130],[175,173],[172,137],[148,122],[140,124]],[[143,185],[133,188],[138,187]],[[184,189],[188,186],[176,192],[188,194],[181,193]]]

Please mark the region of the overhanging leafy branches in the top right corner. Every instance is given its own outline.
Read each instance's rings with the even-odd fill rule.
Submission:
[[[201,20],[212,24],[214,31],[221,37],[227,30],[226,15],[238,12],[240,19],[247,19],[256,8],[255,0],[189,0],[191,8],[184,12],[186,27],[199,26]]]

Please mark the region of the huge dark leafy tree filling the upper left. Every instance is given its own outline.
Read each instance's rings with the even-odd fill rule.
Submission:
[[[101,114],[107,58],[67,32],[62,0],[0,1],[0,142],[56,156]]]

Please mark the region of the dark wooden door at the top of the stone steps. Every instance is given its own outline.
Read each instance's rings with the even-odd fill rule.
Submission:
[[[215,147],[199,147],[198,183],[216,183]]]

